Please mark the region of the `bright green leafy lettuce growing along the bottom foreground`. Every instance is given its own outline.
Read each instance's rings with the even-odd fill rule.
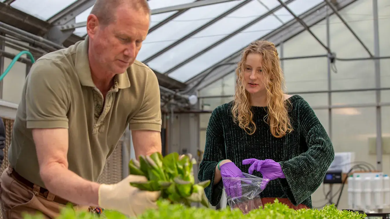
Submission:
[[[211,208],[186,207],[182,204],[170,204],[167,200],[158,201],[158,210],[147,210],[144,214],[138,215],[138,219],[363,219],[365,214],[351,212],[347,210],[340,211],[335,205],[327,205],[321,210],[300,209],[293,210],[287,205],[279,203],[278,200],[272,204],[266,204],[263,208],[254,209],[248,214],[243,214],[241,210],[224,208],[222,210],[213,210]],[[64,208],[57,219],[126,219],[128,217],[115,211],[104,211],[98,215],[87,212],[75,212],[73,208]],[[43,219],[39,216],[27,215],[24,219]],[[131,218],[135,219],[135,218]]]

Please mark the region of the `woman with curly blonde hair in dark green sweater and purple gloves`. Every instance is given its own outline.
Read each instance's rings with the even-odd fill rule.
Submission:
[[[245,172],[269,180],[260,194],[263,204],[278,198],[294,209],[312,208],[311,194],[334,158],[323,125],[302,97],[284,94],[273,43],[255,41],[245,48],[236,75],[234,101],[218,106],[207,126],[198,178],[211,180],[208,200],[216,206],[223,186],[237,184],[223,179]]]

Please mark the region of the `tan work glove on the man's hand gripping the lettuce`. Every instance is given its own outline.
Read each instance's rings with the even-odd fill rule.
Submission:
[[[160,191],[141,191],[130,182],[146,182],[144,176],[129,175],[117,184],[101,184],[99,187],[99,207],[116,210],[130,217],[144,213],[150,208],[157,208],[156,200]]]

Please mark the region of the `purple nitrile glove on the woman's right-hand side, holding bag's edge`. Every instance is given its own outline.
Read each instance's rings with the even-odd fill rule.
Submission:
[[[249,174],[252,174],[254,170],[259,171],[264,179],[268,179],[269,181],[275,180],[277,178],[285,178],[284,173],[282,171],[282,167],[278,162],[275,162],[271,159],[258,160],[255,158],[245,159],[243,160],[243,165],[251,164],[248,170]],[[260,189],[264,190],[268,184],[268,182],[262,183]]]

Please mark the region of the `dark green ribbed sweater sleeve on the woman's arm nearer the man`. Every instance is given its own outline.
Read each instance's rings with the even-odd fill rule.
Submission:
[[[200,182],[211,180],[210,185],[204,191],[212,206],[218,205],[223,191],[222,180],[214,185],[215,168],[219,161],[226,159],[222,121],[218,118],[220,108],[217,107],[211,113],[206,129],[206,145],[204,147],[203,160],[200,162],[198,174]]]

